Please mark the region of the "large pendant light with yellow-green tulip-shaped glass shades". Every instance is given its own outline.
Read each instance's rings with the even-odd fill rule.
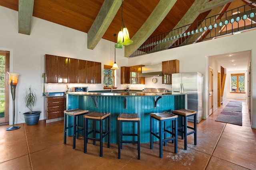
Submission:
[[[121,15],[122,15],[121,30],[118,33],[117,43],[115,45],[115,47],[118,49],[122,49],[123,45],[130,45],[133,43],[133,41],[130,39],[128,29],[124,25],[124,21],[123,21],[123,1],[122,1],[121,9],[122,9],[122,11],[121,11]]]

